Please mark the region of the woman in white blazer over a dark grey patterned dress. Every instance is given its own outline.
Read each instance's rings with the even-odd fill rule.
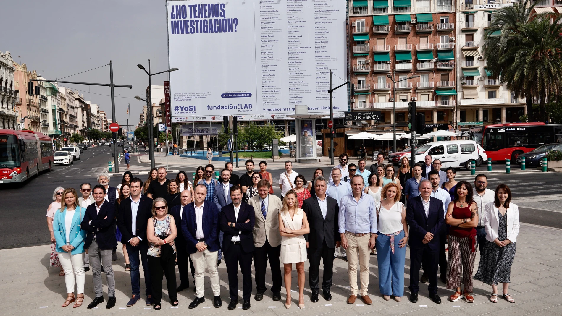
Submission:
[[[486,245],[474,278],[492,286],[492,303],[497,303],[498,282],[502,282],[504,299],[515,303],[507,292],[507,287],[519,233],[519,208],[511,203],[511,190],[507,185],[498,185],[494,201],[484,207],[484,228]]]

